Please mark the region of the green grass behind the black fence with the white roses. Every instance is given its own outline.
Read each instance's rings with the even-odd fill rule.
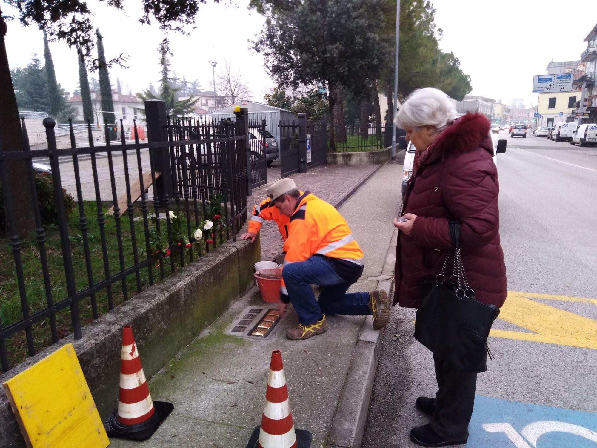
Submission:
[[[88,219],[88,240],[91,254],[91,271],[93,271],[94,283],[98,283],[106,278],[104,272],[104,259],[101,247],[100,226],[97,223],[97,205],[96,202],[85,202],[85,214]],[[153,207],[150,207],[152,210]],[[184,203],[181,202],[181,208],[184,209]],[[104,213],[108,207],[103,207]],[[107,259],[109,261],[110,275],[117,274],[121,271],[119,263],[119,248],[118,238],[116,237],[116,220],[112,215],[104,214],[106,217],[105,233],[107,246]],[[134,217],[142,216],[140,208],[134,210]],[[195,214],[191,211],[191,234],[196,229]],[[198,216],[199,222],[203,217]],[[73,272],[75,275],[76,290],[82,291],[89,287],[87,277],[87,267],[85,263],[85,251],[82,240],[82,232],[79,228],[79,211],[78,207],[70,214],[69,220],[69,240],[72,253]],[[162,219],[161,235],[164,241],[164,247],[168,246],[167,225],[166,220]],[[125,269],[134,266],[133,254],[133,239],[131,237],[131,226],[128,214],[124,214],[120,220],[122,232],[122,250],[124,253]],[[149,226],[152,223],[149,222]],[[146,242],[143,220],[134,221],[135,235],[137,239],[137,252],[139,253],[139,261],[146,259]],[[48,226],[46,229],[46,251],[48,259],[48,271],[50,272],[51,293],[53,302],[59,302],[68,296],[66,287],[66,277],[64,275],[64,264],[60,245],[60,235],[57,226]],[[201,251],[205,253],[205,234],[202,241]],[[183,234],[187,235],[186,218],[183,219]],[[216,237],[214,243],[210,244],[210,250],[215,246],[220,246],[219,231],[215,231]],[[231,234],[231,231],[230,231]],[[222,232],[222,241],[226,240],[226,232]],[[230,235],[232,237],[232,235]],[[4,247],[4,257],[0,258],[0,317],[2,318],[2,326],[6,327],[12,323],[22,320],[23,312],[21,311],[21,299],[19,286],[17,284],[16,268],[14,264],[14,257],[7,235],[3,235],[0,241],[0,247]],[[173,254],[175,267],[180,269],[180,253]],[[193,259],[198,257],[198,253],[193,245]],[[23,263],[23,275],[25,292],[27,296],[27,305],[29,314],[41,311],[47,307],[47,298],[44,287],[44,277],[42,274],[41,257],[39,253],[39,246],[35,241],[35,236],[31,235],[29,238],[24,238],[21,241],[21,261]],[[185,265],[190,262],[189,249],[185,251]],[[171,273],[170,258],[162,259],[164,263],[164,275],[168,276]],[[155,262],[152,263],[153,282],[158,283],[161,280],[160,269],[156,268]],[[139,271],[140,290],[144,290],[149,286],[149,268],[143,268]],[[135,274],[131,274],[126,280],[128,289],[128,298],[133,297],[139,293],[137,289],[137,278]],[[122,289],[122,281],[117,281],[112,284],[113,305],[116,306],[124,301],[124,294]],[[103,289],[96,293],[97,312],[103,315],[108,311],[108,294],[107,290]],[[81,324],[85,325],[94,320],[91,306],[91,298],[86,297],[79,302],[79,311],[81,314]],[[56,314],[56,324],[59,331],[59,336],[64,337],[72,332],[72,323],[70,318],[69,307],[61,310]],[[36,351],[51,345],[51,331],[50,322],[48,319],[32,326],[33,339]],[[27,356],[27,342],[25,332],[21,331],[5,340],[7,345],[8,357],[10,365],[14,366],[23,361]]]

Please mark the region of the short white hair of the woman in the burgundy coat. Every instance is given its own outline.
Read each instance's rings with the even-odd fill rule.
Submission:
[[[435,126],[443,131],[454,121],[456,106],[441,90],[433,87],[419,88],[411,93],[396,113],[396,126],[418,128]]]

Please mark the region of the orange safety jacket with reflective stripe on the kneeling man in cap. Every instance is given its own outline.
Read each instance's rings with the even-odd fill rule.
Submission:
[[[304,261],[313,255],[363,266],[363,251],[355,241],[346,220],[333,205],[309,191],[298,198],[297,208],[290,217],[288,231],[288,239],[284,243],[286,257],[282,272],[291,263]],[[284,278],[281,293],[282,300],[287,299],[288,291]]]

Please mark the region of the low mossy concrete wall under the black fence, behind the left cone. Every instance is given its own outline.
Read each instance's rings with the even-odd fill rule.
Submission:
[[[226,311],[232,300],[251,289],[253,265],[260,257],[259,239],[255,243],[224,243],[83,327],[81,339],[65,337],[0,376],[0,383],[72,343],[100,416],[105,419],[118,405],[122,327],[133,326],[149,380]],[[0,394],[0,446],[25,446],[5,394]]]

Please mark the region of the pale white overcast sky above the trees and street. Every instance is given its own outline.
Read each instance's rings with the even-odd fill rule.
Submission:
[[[115,85],[118,77],[133,92],[146,88],[150,81],[157,84],[156,48],[164,34],[155,25],[137,22],[140,2],[125,0],[127,13],[107,8],[97,0],[88,4],[96,13],[93,22],[104,36],[106,57],[130,55],[130,68],[112,69],[110,81]],[[261,101],[273,81],[263,59],[247,41],[261,30],[264,19],[247,10],[248,0],[235,0],[235,4],[231,7],[208,0],[201,5],[196,29],[189,36],[171,33],[172,68],[189,81],[199,79],[205,90],[211,90],[212,67],[208,61],[223,65],[228,60],[244,74],[254,99]],[[533,75],[545,73],[552,59],[579,59],[587,45],[583,39],[597,22],[597,16],[588,13],[594,11],[595,0],[577,0],[574,7],[562,4],[561,0],[435,0],[436,24],[444,30],[440,47],[454,51],[460,59],[461,68],[472,79],[472,94],[506,103],[522,98],[527,107],[535,105]],[[50,49],[58,81],[66,90],[74,90],[78,85],[75,50],[69,50],[64,42],[51,42]],[[42,33],[34,27],[22,27],[18,21],[9,22],[7,50],[11,68],[26,65],[33,52],[43,59]]]

